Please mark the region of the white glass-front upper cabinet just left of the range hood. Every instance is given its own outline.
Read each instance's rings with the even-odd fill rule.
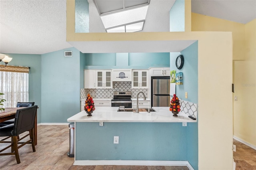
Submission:
[[[96,88],[112,89],[112,70],[96,70]]]

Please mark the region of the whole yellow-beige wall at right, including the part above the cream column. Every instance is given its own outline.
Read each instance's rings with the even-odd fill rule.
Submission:
[[[192,13],[192,31],[232,32],[234,137],[256,148],[256,19],[240,24]]]

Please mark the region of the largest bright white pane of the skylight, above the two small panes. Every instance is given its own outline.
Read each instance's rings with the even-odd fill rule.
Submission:
[[[100,18],[104,24],[104,27],[107,29],[132,22],[138,22],[140,20],[145,20],[147,10],[148,5],[140,8],[109,14],[106,16],[101,16]]]

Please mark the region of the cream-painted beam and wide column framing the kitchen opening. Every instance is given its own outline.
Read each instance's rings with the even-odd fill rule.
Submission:
[[[112,41],[112,43],[142,41],[143,43],[151,40],[198,40],[198,167],[200,170],[232,170],[232,33],[77,34],[74,33],[74,1],[67,0],[67,41]]]

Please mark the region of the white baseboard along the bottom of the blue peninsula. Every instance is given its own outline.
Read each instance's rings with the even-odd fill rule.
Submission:
[[[73,165],[187,166],[190,170],[194,170],[185,160],[75,160]]]

